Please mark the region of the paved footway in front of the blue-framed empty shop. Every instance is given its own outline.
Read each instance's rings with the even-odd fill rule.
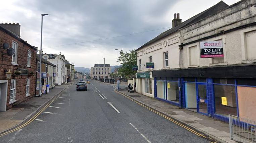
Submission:
[[[236,141],[231,140],[229,137],[229,124],[226,122],[204,116],[188,109],[181,109],[180,107],[139,93],[129,93],[126,87],[120,88],[120,90],[116,91],[155,111],[161,112],[178,122],[202,132],[216,141],[221,143],[236,143]]]

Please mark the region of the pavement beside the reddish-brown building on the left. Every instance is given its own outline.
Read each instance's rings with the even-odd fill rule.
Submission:
[[[73,82],[69,82],[64,85],[55,86],[54,88],[50,89],[49,93],[43,94],[41,97],[30,98],[27,101],[12,107],[6,112],[0,112],[0,133],[18,126],[30,118],[45,103],[68,88],[72,83]]]

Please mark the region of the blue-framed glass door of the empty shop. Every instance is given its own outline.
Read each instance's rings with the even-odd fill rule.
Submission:
[[[206,84],[197,84],[197,112],[208,115]]]

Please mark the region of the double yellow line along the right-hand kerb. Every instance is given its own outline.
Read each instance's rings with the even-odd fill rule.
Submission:
[[[151,109],[151,108],[149,108],[149,107],[147,107],[147,106],[141,104],[140,102],[138,102],[138,101],[136,101],[136,100],[134,100],[134,99],[132,99],[132,98],[130,98],[130,97],[127,97],[127,96],[124,95],[123,93],[120,93],[120,92],[118,92],[118,91],[116,91],[116,90],[115,90],[115,92],[117,92],[117,93],[121,94],[122,96],[124,96],[124,97],[126,97],[126,98],[128,98],[128,99],[130,99],[130,100],[132,100],[132,101],[134,101],[134,102],[136,102],[137,104],[139,104],[139,105],[141,105],[141,106],[147,108],[148,110],[150,110],[150,111],[152,111],[152,112],[154,112],[154,113],[156,113],[156,114],[158,114],[158,115],[164,117],[165,119],[167,119],[167,120],[169,120],[169,121],[171,121],[171,122],[173,122],[173,123],[175,123],[175,124],[177,124],[177,125],[179,125],[179,126],[185,128],[185,129],[187,129],[188,131],[190,131],[190,132],[192,132],[192,133],[198,135],[199,137],[206,138],[206,136],[202,135],[201,133],[198,133],[198,132],[192,130],[191,128],[189,128],[189,127],[187,127],[187,126],[185,126],[185,125],[183,125],[183,124],[181,124],[181,123],[179,123],[179,122],[177,122],[177,121],[171,119],[170,117],[167,117],[167,116],[165,116],[164,114],[159,113],[159,112],[157,112],[157,111],[155,111],[155,110],[153,110],[153,109]]]

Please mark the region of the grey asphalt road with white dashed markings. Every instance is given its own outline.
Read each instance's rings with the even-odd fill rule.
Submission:
[[[88,91],[76,91],[75,85],[70,86],[36,120],[0,137],[0,142],[209,141],[114,92],[113,86],[91,80]]]

